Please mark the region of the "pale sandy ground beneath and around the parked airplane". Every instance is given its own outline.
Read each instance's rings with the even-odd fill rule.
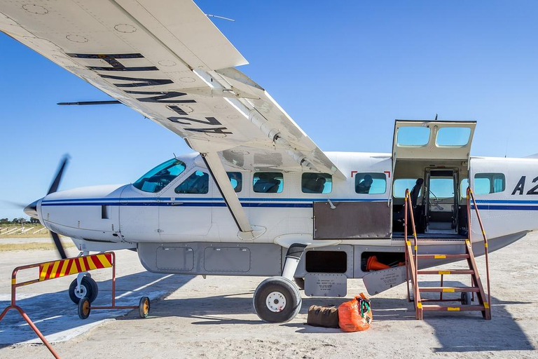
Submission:
[[[251,300],[263,278],[147,273],[130,251],[118,252],[119,300],[137,304],[141,295],[160,297],[147,319],[136,311],[92,311],[87,320],[79,319],[65,290],[72,278],[24,287],[19,304],[55,341],[62,358],[538,358],[537,240],[538,233],[531,234],[490,255],[492,320],[474,312],[429,312],[425,320],[415,320],[400,285],[373,297],[374,322],[367,332],[305,325],[311,304],[345,299],[303,297],[303,309],[290,323],[266,324]],[[8,305],[4,299],[14,266],[53,257],[51,251],[0,253],[1,306]],[[482,269],[483,260],[478,265]],[[106,304],[110,272],[95,272],[94,278],[97,302]],[[361,280],[348,281],[347,297],[361,291]],[[23,324],[13,312],[0,323],[0,357],[50,358],[40,344],[12,344],[33,338]]]

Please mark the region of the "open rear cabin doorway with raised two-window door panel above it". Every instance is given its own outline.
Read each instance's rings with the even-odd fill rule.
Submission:
[[[408,182],[415,223],[423,233],[457,235],[459,231],[460,179],[468,176],[475,128],[476,121],[396,120],[393,180]],[[417,179],[424,183],[420,191],[413,191]],[[401,186],[393,185],[402,192],[397,196],[403,198]]]

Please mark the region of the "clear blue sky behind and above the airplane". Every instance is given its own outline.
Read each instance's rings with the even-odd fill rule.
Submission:
[[[472,154],[538,152],[537,1],[197,1],[258,82],[326,151],[389,152],[394,118],[478,121]],[[181,14],[178,14],[181,16]],[[71,154],[60,189],[132,182],[189,151],[0,34],[0,199],[30,203]],[[0,217],[22,212],[0,203]]]

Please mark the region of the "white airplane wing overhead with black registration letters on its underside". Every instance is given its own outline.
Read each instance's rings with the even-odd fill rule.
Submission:
[[[343,177],[190,0],[3,1],[0,30],[183,137],[246,170]]]

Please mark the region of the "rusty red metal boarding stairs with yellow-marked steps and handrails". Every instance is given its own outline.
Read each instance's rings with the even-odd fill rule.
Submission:
[[[484,243],[484,253],[485,253],[485,273],[486,273],[486,282],[488,287],[488,296],[486,297],[484,287],[482,285],[481,278],[478,274],[478,267],[476,266],[476,260],[473,254],[472,240],[471,240],[471,201],[473,203],[474,210],[476,210],[476,217],[478,218],[478,224],[480,224],[483,243]],[[467,233],[469,238],[466,238],[464,241],[461,241],[462,245],[462,254],[448,254],[448,253],[438,253],[438,254],[420,254],[420,242],[427,241],[427,239],[421,239],[418,241],[417,232],[415,229],[415,218],[413,217],[413,210],[411,205],[411,197],[409,196],[409,190],[406,190],[405,197],[405,228],[404,228],[404,238],[406,241],[406,273],[407,273],[407,295],[408,301],[413,300],[415,304],[415,313],[418,320],[422,320],[422,313],[424,311],[481,311],[484,319],[491,319],[491,294],[490,294],[490,271],[489,271],[489,262],[488,262],[488,238],[485,236],[485,230],[482,224],[482,219],[480,213],[478,212],[478,206],[474,199],[473,191],[468,187],[467,188]],[[411,219],[411,222],[408,223],[408,218]],[[408,239],[408,226],[413,230],[413,245]],[[432,242],[434,243],[434,242]],[[442,247],[440,247],[442,248]],[[450,269],[450,270],[419,270],[419,260],[423,259],[467,259],[467,264],[469,269]],[[446,262],[446,261],[443,261]],[[424,287],[421,286],[418,281],[418,276],[441,276],[439,287]],[[471,276],[471,287],[447,287],[443,286],[443,276],[446,275],[470,275]],[[411,287],[413,288],[413,295],[411,295]],[[439,292],[439,298],[435,299],[425,299],[421,297],[421,293],[425,292]],[[443,293],[462,293],[460,298],[443,298]],[[469,293],[472,294],[472,300],[478,299],[478,305],[470,304],[471,298]],[[430,302],[436,302],[437,304],[428,304]],[[455,306],[453,305],[441,305],[439,303],[443,302],[460,302]]]

